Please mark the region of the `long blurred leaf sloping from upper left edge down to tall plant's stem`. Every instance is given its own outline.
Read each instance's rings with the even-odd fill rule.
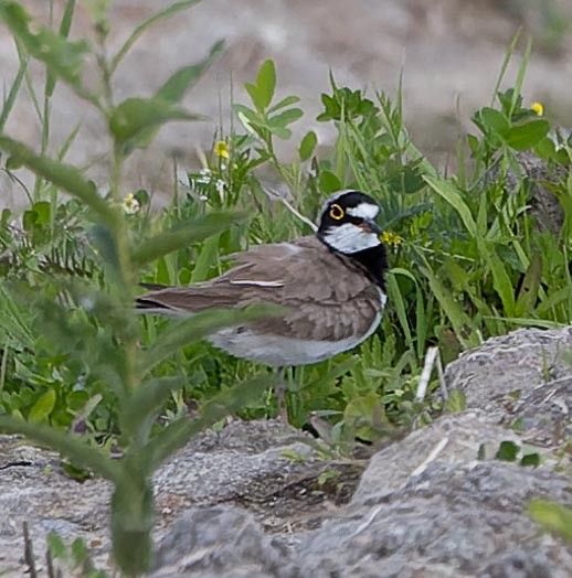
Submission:
[[[75,167],[35,154],[22,142],[2,135],[0,135],[0,149],[15,157],[22,165],[35,174],[83,201],[106,222],[115,221],[112,206],[97,194],[94,183],[86,181],[83,172]]]

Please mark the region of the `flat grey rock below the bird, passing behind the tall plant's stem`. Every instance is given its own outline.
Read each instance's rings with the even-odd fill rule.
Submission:
[[[349,501],[364,464],[318,461],[304,439],[276,420],[235,420],[198,436],[155,475],[156,537],[181,512],[204,504],[242,504],[274,531],[319,525]],[[55,529],[67,543],[82,537],[93,544],[95,561],[105,567],[109,499],[106,481],[80,483],[64,474],[56,453],[0,436],[0,574],[25,570],[24,521],[40,565],[45,536]]]

